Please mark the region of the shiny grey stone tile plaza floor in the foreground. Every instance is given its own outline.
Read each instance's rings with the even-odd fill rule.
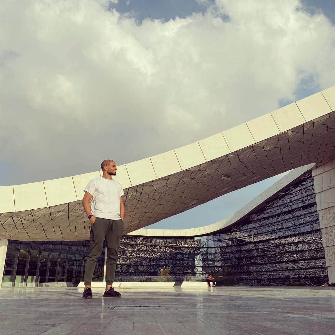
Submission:
[[[335,288],[1,288],[0,335],[335,334]]]

